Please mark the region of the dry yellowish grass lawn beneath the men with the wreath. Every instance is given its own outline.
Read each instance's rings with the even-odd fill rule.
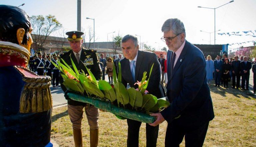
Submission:
[[[229,85],[229,87],[231,87]],[[256,97],[249,91],[210,86],[215,118],[210,121],[204,146],[256,146]],[[100,112],[99,145],[126,146],[126,120]],[[167,123],[160,124],[157,146],[164,146]],[[139,146],[146,146],[146,125],[140,129]],[[90,146],[89,126],[84,113],[83,145]],[[60,146],[74,146],[67,107],[53,109],[51,137]],[[181,146],[184,146],[184,139]]]

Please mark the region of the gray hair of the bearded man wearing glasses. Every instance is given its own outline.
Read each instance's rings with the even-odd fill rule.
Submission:
[[[184,33],[186,35],[183,22],[177,18],[168,19],[164,22],[162,26],[162,32],[169,31],[172,31],[175,35],[180,33]]]

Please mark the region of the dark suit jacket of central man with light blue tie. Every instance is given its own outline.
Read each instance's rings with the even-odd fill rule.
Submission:
[[[147,91],[149,94],[156,96],[157,98],[164,97],[164,91],[160,84],[160,65],[157,61],[157,57],[155,53],[148,51],[138,51],[138,56],[136,60],[135,66],[135,81],[141,81],[143,77],[143,72],[147,72],[147,78],[149,77],[149,72],[152,64],[154,63],[154,67],[149,79]],[[122,73],[122,83],[125,87],[127,87],[127,83],[129,83],[130,87],[138,88],[138,85],[134,85],[134,81],[132,79],[130,61],[129,59],[123,58],[120,60],[121,64],[121,73]]]

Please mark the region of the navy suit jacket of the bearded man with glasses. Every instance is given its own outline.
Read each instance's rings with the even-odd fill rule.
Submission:
[[[168,50],[167,61],[171,61],[172,53]],[[171,105],[161,114],[168,123],[178,117],[176,121],[181,126],[198,126],[214,118],[205,65],[202,51],[186,41],[172,75],[169,68],[167,71],[166,95]]]

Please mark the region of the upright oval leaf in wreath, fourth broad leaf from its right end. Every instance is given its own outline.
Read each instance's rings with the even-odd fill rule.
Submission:
[[[129,94],[122,83],[117,82],[114,86],[114,91],[118,102],[121,102],[123,105],[129,103]]]

